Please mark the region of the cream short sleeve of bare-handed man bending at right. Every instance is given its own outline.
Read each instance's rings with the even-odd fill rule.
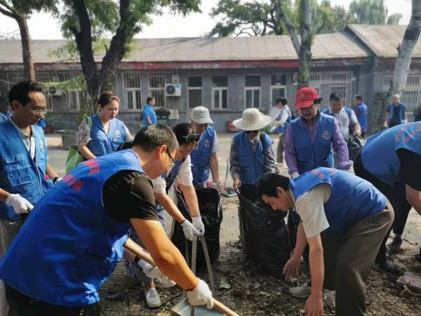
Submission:
[[[329,228],[323,204],[329,199],[331,187],[328,183],[316,185],[295,202],[307,238],[314,237]]]

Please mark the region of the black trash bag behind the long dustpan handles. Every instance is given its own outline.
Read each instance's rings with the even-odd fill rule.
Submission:
[[[196,188],[196,195],[199,201],[199,209],[203,225],[205,225],[206,246],[208,246],[210,263],[215,262],[220,254],[220,226],[222,223],[222,201],[217,190],[210,187]],[[178,209],[187,220],[192,221],[184,197],[178,194]],[[185,256],[185,235],[180,224],[175,223],[171,241]],[[192,242],[188,241],[189,257],[192,256]],[[206,267],[205,256],[201,242],[197,243],[197,268]]]

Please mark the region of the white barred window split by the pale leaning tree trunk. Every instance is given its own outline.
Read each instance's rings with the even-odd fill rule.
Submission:
[[[392,86],[393,76],[383,77],[383,91],[389,91]],[[401,103],[406,105],[406,111],[413,113],[420,107],[421,103],[421,76],[418,74],[408,74],[405,87],[401,94]]]

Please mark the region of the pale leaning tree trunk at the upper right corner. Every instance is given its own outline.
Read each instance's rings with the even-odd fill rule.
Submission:
[[[408,77],[408,70],[410,60],[413,54],[415,44],[421,32],[421,1],[412,1],[412,13],[408,27],[406,27],[403,35],[402,44],[398,48],[398,58],[393,71],[392,86],[389,88],[389,95],[401,94],[405,88],[406,77]]]

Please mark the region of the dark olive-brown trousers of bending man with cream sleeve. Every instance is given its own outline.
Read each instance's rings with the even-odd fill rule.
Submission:
[[[387,210],[364,218],[345,236],[321,234],[325,268],[323,288],[336,292],[336,315],[366,315],[364,283],[393,218],[388,202]]]

